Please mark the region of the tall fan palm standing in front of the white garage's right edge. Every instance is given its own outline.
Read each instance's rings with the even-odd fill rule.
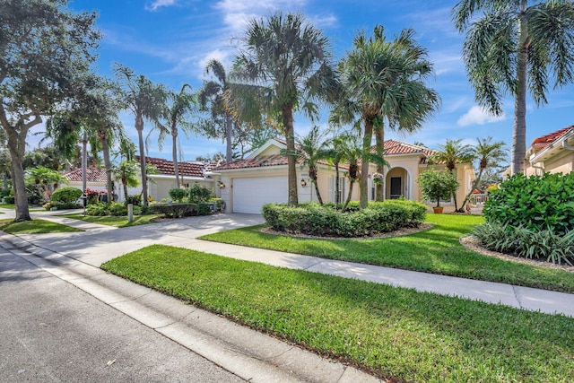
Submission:
[[[317,117],[315,102],[328,91],[333,71],[327,39],[300,13],[274,13],[265,22],[252,20],[235,59],[230,98],[243,116],[248,109],[276,118],[283,129],[288,159],[288,205],[299,204],[293,111]],[[249,108],[250,107],[250,108]]]

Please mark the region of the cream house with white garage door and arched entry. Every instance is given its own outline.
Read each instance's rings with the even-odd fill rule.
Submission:
[[[287,203],[287,158],[281,154],[286,145],[282,140],[271,139],[256,152],[251,153],[245,160],[232,161],[213,170],[214,176],[221,177],[218,181],[221,197],[227,204],[230,213],[261,213],[261,207],[267,203]],[[429,169],[426,160],[433,152],[431,149],[404,144],[398,141],[385,142],[385,159],[390,167],[385,171],[386,198],[404,196],[413,201],[420,200],[419,187],[416,179],[419,174]],[[437,169],[444,169],[437,165]],[[474,179],[472,164],[457,164],[457,178],[461,187],[457,200],[463,201],[470,190]],[[341,167],[341,201],[347,196],[349,181],[344,177],[347,169]],[[373,165],[370,174],[376,171]],[[335,168],[326,162],[320,163],[317,171],[317,185],[324,202],[335,202]],[[297,166],[299,202],[317,201],[315,187],[309,180],[309,170]],[[375,197],[375,187],[369,176],[369,198]],[[353,186],[352,200],[359,200],[359,184]],[[452,201],[442,202],[445,211],[453,211]]]

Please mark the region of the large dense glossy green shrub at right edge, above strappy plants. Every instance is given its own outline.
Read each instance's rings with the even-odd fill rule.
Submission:
[[[491,191],[483,213],[487,222],[565,235],[574,230],[574,173],[514,175]]]

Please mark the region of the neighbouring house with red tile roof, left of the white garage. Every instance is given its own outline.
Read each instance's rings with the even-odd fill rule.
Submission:
[[[136,156],[135,161],[138,161],[139,163],[139,156]],[[145,162],[152,164],[159,171],[158,174],[148,175],[148,178],[150,179],[148,181],[148,196],[151,196],[153,200],[156,201],[161,201],[163,198],[170,198],[170,189],[176,187],[173,161],[161,158],[145,157]],[[205,164],[204,162],[191,161],[178,162],[180,186],[191,187],[198,183],[199,185],[210,189],[214,196],[218,196],[219,191],[215,184],[215,178],[213,178],[210,173],[210,171],[218,164],[219,163],[216,161],[208,164]],[[141,187],[139,187],[139,192],[141,192]]]

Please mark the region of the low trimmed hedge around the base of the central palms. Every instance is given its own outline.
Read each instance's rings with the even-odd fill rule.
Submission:
[[[413,201],[370,203],[366,209],[342,213],[316,203],[291,207],[263,206],[265,221],[275,231],[321,237],[366,237],[402,228],[418,227],[427,206]]]

